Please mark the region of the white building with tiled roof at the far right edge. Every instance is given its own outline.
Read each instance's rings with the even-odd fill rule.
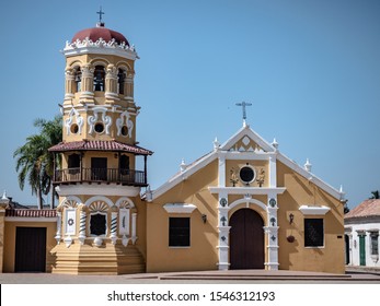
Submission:
[[[380,200],[361,202],[345,215],[346,264],[380,267]]]

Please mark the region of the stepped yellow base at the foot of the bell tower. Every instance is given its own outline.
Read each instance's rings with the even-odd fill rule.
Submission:
[[[101,247],[90,244],[65,244],[51,249],[55,258],[51,273],[117,275],[146,272],[146,262],[134,245],[127,247],[106,243]]]

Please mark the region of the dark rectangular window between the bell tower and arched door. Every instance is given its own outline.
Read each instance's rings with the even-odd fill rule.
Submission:
[[[169,217],[169,246],[189,247],[189,217]]]

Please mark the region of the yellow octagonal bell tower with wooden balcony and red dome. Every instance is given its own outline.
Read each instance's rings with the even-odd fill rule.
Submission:
[[[62,54],[62,142],[49,149],[60,164],[54,177],[59,205],[53,272],[143,272],[140,189],[148,186],[147,156],[152,152],[137,145],[138,55],[101,19],[67,42]],[[140,164],[143,168],[137,169]]]

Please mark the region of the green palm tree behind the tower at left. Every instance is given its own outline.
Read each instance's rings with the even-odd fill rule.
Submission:
[[[32,195],[37,196],[38,209],[43,208],[43,193],[51,192],[50,205],[54,208],[53,174],[55,162],[54,155],[48,152],[48,149],[61,141],[61,117],[56,116],[51,121],[37,119],[34,126],[41,129],[41,133],[26,138],[26,143],[13,153],[13,157],[16,158],[15,169],[19,172],[19,185],[23,190],[27,179]]]

